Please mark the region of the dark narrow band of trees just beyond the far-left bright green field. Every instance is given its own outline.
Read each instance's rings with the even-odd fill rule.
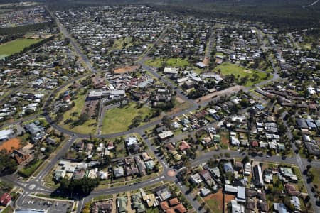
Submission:
[[[0,35],[19,35],[30,31],[38,31],[43,28],[52,28],[55,26],[53,21],[46,23],[36,23],[25,26],[17,26],[13,28],[0,28]]]

